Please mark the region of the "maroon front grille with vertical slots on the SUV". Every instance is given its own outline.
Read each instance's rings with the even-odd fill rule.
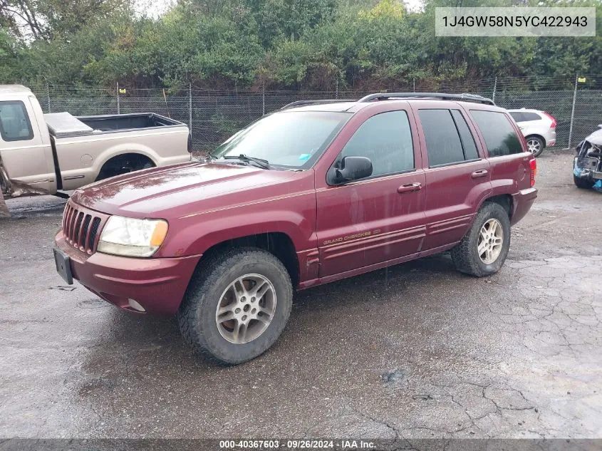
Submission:
[[[96,250],[98,231],[103,215],[67,202],[63,213],[63,234],[66,242],[87,254]]]

